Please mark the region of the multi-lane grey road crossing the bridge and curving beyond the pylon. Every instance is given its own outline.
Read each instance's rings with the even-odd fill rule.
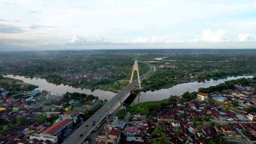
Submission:
[[[147,63],[148,64],[148,63]],[[140,76],[140,80],[150,77],[152,73],[155,72],[155,66],[148,64],[150,70]],[[110,99],[104,106],[102,106],[97,112],[95,112],[86,122],[82,124],[72,135],[70,135],[63,144],[82,144],[86,137],[91,134],[93,129],[113,111],[113,109],[118,108],[117,105],[126,98],[128,93],[138,85],[137,79],[131,84],[123,88],[119,93],[117,93],[112,99]],[[93,121],[95,120],[95,125]]]

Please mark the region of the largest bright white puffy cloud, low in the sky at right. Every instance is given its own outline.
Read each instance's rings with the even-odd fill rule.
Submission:
[[[202,31],[202,41],[205,42],[225,42],[229,41],[226,30],[219,29],[216,32],[205,29]]]

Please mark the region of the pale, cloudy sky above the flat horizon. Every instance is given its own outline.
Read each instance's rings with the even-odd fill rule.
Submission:
[[[256,48],[256,0],[0,0],[0,51]]]

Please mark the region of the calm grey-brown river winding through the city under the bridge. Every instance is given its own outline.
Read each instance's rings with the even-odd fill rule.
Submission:
[[[82,90],[80,88],[73,88],[68,85],[64,86],[63,84],[56,85],[53,83],[49,83],[45,79],[41,79],[41,78],[32,78],[31,79],[31,78],[27,78],[24,76],[14,76],[14,75],[6,75],[4,77],[14,78],[14,79],[22,80],[25,83],[37,85],[38,86],[37,90],[51,91],[51,94],[53,94],[53,95],[63,95],[66,91],[69,91],[69,92],[93,94],[94,96],[98,96],[99,99],[110,100],[116,94],[111,91],[94,90],[93,92],[91,92],[91,90],[87,90],[87,89]],[[132,105],[140,103],[140,102],[145,102],[145,101],[156,101],[156,100],[167,99],[167,98],[169,98],[170,95],[181,95],[186,91],[193,92],[193,91],[197,91],[198,88],[207,88],[210,86],[215,86],[219,83],[223,83],[224,81],[235,80],[235,79],[239,79],[239,78],[243,78],[243,77],[252,78],[253,76],[228,77],[227,79],[210,80],[210,81],[206,81],[205,83],[195,81],[195,82],[177,84],[169,89],[140,92],[140,93],[138,93],[138,96],[134,99],[134,101],[132,102]]]

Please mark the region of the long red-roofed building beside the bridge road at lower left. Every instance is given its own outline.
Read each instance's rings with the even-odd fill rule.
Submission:
[[[73,121],[70,119],[63,119],[49,128],[47,128],[45,131],[43,131],[42,134],[44,135],[53,135],[53,136],[60,136],[64,134],[65,132],[69,131],[69,129],[73,126]]]

